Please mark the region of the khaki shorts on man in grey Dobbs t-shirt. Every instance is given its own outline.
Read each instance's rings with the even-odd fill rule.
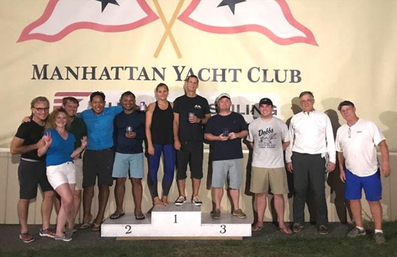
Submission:
[[[272,194],[288,194],[287,174],[285,173],[285,168],[252,167],[250,191],[257,194],[267,194],[269,186]]]

